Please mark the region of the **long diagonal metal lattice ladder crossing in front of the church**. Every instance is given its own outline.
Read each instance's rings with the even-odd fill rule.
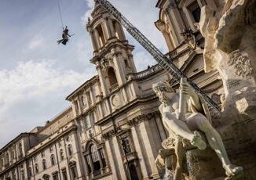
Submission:
[[[168,72],[175,80],[179,81],[181,77],[186,77],[186,75],[178,67],[176,67],[171,60],[163,55],[163,53],[160,52],[160,50],[157,49],[155,45],[153,45],[152,42],[141,33],[141,31],[138,31],[137,28],[134,27],[125,16],[115,9],[115,7],[108,2],[108,0],[95,0],[95,2],[102,5],[108,11],[108,13],[112,14],[112,16],[114,16],[115,19],[118,20],[124,28],[126,28],[126,31],[128,31],[133,38],[135,38],[144,47],[144,49],[146,49],[154,57],[154,59],[159,63],[159,66],[163,67],[163,69],[166,70],[166,72]],[[208,103],[208,105],[220,113],[219,106],[212,99],[210,99],[210,97],[193,81],[191,81],[188,77],[186,78],[188,84],[191,85],[197,93],[202,95],[203,99]]]

